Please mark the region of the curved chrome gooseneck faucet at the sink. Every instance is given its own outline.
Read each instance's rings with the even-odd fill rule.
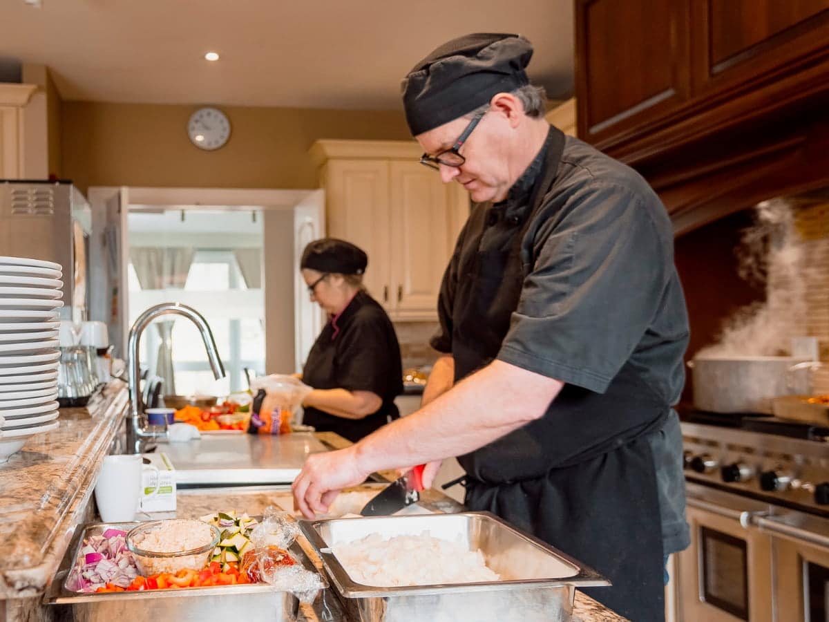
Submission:
[[[127,451],[131,454],[141,453],[141,442],[143,439],[164,440],[167,438],[167,430],[162,425],[147,425],[143,417],[143,403],[141,399],[141,371],[138,368],[138,343],[141,340],[141,333],[155,318],[162,315],[182,315],[196,324],[201,333],[201,340],[205,343],[207,360],[210,361],[213,376],[216,380],[225,377],[225,367],[221,364],[216,341],[213,339],[210,326],[207,325],[201,313],[180,303],[162,303],[150,307],[133,323],[129,329],[128,352],[127,352],[127,374],[129,384],[129,417],[127,420]]]

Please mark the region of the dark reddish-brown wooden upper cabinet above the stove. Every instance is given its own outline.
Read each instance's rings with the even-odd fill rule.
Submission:
[[[829,92],[827,0],[577,0],[579,137],[628,163]]]

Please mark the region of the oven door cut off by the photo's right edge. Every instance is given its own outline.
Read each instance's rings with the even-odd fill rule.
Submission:
[[[829,520],[787,513],[755,522],[772,536],[777,620],[829,622]]]

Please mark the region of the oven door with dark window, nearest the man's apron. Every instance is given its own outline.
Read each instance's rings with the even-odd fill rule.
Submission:
[[[752,524],[768,506],[687,485],[691,547],[678,556],[680,620],[772,622],[771,537]]]

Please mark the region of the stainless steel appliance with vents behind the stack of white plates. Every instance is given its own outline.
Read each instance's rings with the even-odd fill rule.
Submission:
[[[63,266],[62,317],[89,313],[92,210],[65,181],[0,180],[0,255],[55,261]]]

